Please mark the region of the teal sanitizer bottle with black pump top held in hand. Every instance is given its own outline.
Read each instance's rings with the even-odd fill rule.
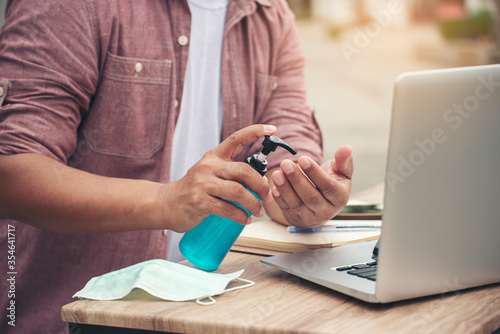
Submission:
[[[263,148],[259,155],[254,154],[247,159],[247,163],[262,176],[267,172],[267,156],[274,152],[278,146],[285,148],[292,154],[297,153],[290,145],[276,136],[265,136],[262,145]],[[248,189],[246,186],[245,188]],[[248,191],[259,199],[253,191],[250,189]],[[238,203],[230,203],[250,215],[250,212]],[[182,255],[198,268],[207,271],[216,270],[244,227],[244,225],[229,218],[209,215],[200,224],[184,234],[179,243],[179,249]]]

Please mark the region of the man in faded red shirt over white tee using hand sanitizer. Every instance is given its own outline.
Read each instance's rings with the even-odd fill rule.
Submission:
[[[250,223],[227,201],[303,226],[338,213],[352,151],[318,165],[303,68],[283,0],[9,2],[0,249],[15,240],[15,262],[0,268],[16,274],[0,307],[14,301],[15,327],[3,317],[0,331],[67,332],[59,314],[72,294],[93,276],[164,258],[165,229],[209,214]],[[262,178],[241,161],[274,133],[301,157],[274,153]]]

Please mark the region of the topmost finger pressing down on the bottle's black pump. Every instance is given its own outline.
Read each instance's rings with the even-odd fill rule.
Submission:
[[[219,146],[214,149],[214,152],[222,159],[233,160],[243,148],[255,142],[262,136],[273,135],[276,132],[274,125],[256,124],[236,131],[231,136],[226,138]]]

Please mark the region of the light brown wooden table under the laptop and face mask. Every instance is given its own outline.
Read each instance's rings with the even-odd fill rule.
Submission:
[[[371,305],[230,252],[218,272],[245,269],[255,286],[217,303],[166,302],[135,296],[79,300],[62,308],[70,333],[491,333],[500,327],[500,284],[385,305]],[[82,325],[87,324],[87,325]],[[99,325],[99,326],[89,326]]]

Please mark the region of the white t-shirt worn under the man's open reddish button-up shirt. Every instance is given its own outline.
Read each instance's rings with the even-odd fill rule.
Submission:
[[[221,59],[228,0],[188,0],[191,36],[179,118],[174,131],[170,180],[182,178],[222,133]],[[183,233],[168,232],[167,259],[180,261]]]

